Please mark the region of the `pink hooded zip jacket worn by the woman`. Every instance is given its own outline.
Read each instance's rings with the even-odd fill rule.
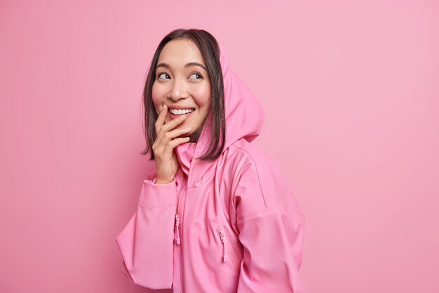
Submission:
[[[116,243],[133,284],[184,293],[303,292],[304,216],[285,177],[250,142],[264,111],[222,47],[227,138],[214,162],[195,159],[210,139],[175,148],[174,181],[143,181],[137,211]]]

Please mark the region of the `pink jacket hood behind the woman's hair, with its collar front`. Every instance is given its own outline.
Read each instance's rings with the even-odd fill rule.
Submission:
[[[224,81],[224,110],[226,141],[224,150],[244,138],[251,142],[259,136],[264,122],[264,110],[248,85],[229,67],[224,50],[219,45],[219,62]],[[197,143],[182,143],[174,148],[180,167],[188,177],[188,187],[196,187],[203,179],[215,171],[215,161],[198,159],[208,150],[210,137],[210,119],[205,122]],[[224,152],[223,150],[223,152]]]

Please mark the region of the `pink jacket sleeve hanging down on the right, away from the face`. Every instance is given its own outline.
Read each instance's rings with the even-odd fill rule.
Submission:
[[[279,169],[257,162],[244,166],[234,193],[243,245],[238,293],[303,293],[304,216]]]

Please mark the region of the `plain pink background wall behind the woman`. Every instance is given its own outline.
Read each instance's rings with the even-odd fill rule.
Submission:
[[[147,66],[177,27],[214,34],[265,107],[255,144],[304,211],[306,292],[439,292],[433,0],[2,0],[0,292],[145,292],[114,238],[154,163]]]

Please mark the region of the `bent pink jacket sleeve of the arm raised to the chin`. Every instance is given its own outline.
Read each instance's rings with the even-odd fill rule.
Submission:
[[[133,284],[172,288],[176,182],[155,184],[151,178],[143,181],[137,210],[115,240],[123,258],[121,271]]]

